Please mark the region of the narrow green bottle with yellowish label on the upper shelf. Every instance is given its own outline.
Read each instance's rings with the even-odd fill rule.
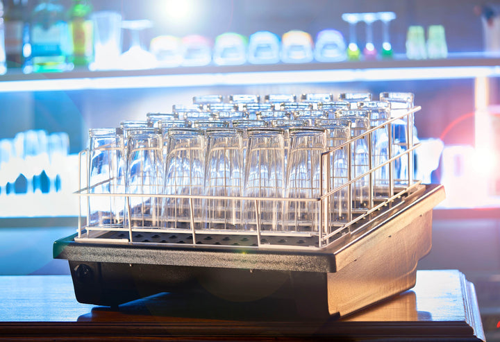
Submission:
[[[92,4],[89,0],[72,0],[69,8],[69,40],[71,53],[69,62],[75,66],[89,65],[93,60],[93,26],[90,14]]]

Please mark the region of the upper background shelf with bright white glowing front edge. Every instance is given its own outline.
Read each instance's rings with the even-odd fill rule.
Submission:
[[[41,74],[22,74],[14,69],[0,76],[0,92],[449,80],[497,76],[500,76],[500,55],[451,53],[449,58],[435,60],[407,60],[396,55],[394,59],[387,60],[109,71],[76,68],[74,71]]]

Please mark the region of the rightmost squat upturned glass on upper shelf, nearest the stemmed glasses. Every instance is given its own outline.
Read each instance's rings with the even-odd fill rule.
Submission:
[[[319,31],[315,43],[315,60],[339,62],[347,58],[344,36],[337,30]]]

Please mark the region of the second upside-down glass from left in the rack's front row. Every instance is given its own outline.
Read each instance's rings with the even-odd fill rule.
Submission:
[[[163,144],[157,128],[129,130],[125,192],[125,226],[132,228],[160,227],[161,191],[163,182]]]

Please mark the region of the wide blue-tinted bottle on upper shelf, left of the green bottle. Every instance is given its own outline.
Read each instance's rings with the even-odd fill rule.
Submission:
[[[24,62],[25,73],[67,71],[73,68],[67,62],[69,31],[65,9],[59,0],[39,0],[31,12],[29,46]],[[30,53],[31,52],[31,53]]]

